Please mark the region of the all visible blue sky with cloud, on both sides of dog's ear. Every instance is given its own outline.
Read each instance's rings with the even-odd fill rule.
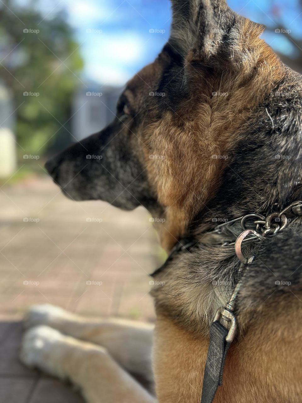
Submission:
[[[29,0],[19,2],[29,4]],[[275,50],[294,54],[294,44],[275,29],[282,25],[292,31],[294,38],[302,37],[298,0],[228,0],[228,4],[271,29],[263,38]],[[102,84],[124,84],[154,60],[169,37],[169,0],[39,0],[39,8],[46,19],[60,9],[66,11],[81,44],[83,78]],[[155,32],[150,33],[150,29]]]

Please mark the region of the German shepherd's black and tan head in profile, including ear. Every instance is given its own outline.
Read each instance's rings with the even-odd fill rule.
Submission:
[[[224,0],[172,0],[172,9],[168,43],[128,82],[115,120],[46,163],[74,200],[164,218],[166,249],[213,197],[250,110],[282,75],[263,27]]]

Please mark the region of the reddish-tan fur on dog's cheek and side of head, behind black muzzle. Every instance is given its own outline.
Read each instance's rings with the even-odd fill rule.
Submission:
[[[150,182],[166,211],[161,229],[165,249],[184,235],[190,219],[213,197],[242,126],[284,75],[277,56],[259,39],[262,29],[246,21],[234,61],[219,77],[204,76],[189,52],[190,98],[166,112],[142,136]],[[213,96],[215,92],[228,95]],[[150,160],[150,154],[162,158]]]

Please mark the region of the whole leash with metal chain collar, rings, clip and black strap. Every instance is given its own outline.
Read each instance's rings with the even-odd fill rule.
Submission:
[[[225,357],[236,335],[238,327],[236,314],[234,312],[236,298],[242,287],[242,276],[244,272],[250,268],[255,258],[254,255],[244,256],[241,249],[242,244],[257,239],[264,241],[267,237],[283,231],[283,229],[289,225],[292,218],[302,216],[301,208],[302,202],[297,201],[285,207],[281,212],[273,212],[266,217],[261,214],[247,214],[230,222],[217,225],[213,231],[210,231],[210,233],[224,234],[227,237],[231,235],[234,236],[236,234],[236,223],[238,222],[240,222],[241,229],[243,229],[243,232],[237,236],[235,242],[225,241],[223,243],[223,246],[234,245],[235,253],[241,264],[237,273],[236,286],[234,287],[233,293],[227,305],[216,311],[210,327],[210,341],[203,377],[201,403],[212,403],[218,386],[222,385]],[[251,218],[254,220],[256,229],[246,228],[246,221]],[[225,327],[224,324],[221,323],[221,319],[228,323],[228,327]]]

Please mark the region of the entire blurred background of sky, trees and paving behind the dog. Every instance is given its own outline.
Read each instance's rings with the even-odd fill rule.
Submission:
[[[302,0],[228,3],[302,72]],[[112,120],[170,24],[168,0],[0,0],[0,403],[70,399],[17,361],[30,305],[154,320],[149,273],[165,253],[147,212],[71,202],[43,165]]]

